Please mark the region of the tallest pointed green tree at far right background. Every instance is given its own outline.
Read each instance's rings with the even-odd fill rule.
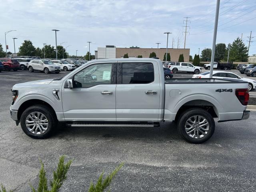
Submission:
[[[244,42],[238,37],[232,45],[230,45],[229,60],[238,62],[247,62],[248,60],[248,48]]]

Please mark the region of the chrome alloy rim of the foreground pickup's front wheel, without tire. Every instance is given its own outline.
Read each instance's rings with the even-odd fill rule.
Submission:
[[[32,112],[26,117],[26,128],[33,134],[43,134],[48,128],[48,119],[40,112]]]

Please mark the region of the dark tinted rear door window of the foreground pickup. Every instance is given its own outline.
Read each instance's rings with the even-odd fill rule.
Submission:
[[[122,63],[122,84],[145,84],[153,81],[152,63]]]

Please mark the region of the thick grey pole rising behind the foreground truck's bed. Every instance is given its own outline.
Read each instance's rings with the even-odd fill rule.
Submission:
[[[215,54],[215,47],[216,47],[216,36],[217,36],[218,19],[219,19],[219,10],[220,10],[220,0],[217,0],[216,12],[215,12],[215,22],[214,22],[214,31],[213,31],[213,39],[212,39],[212,58],[211,58],[211,66],[210,66],[210,78],[212,78],[212,72],[213,72],[214,54]]]

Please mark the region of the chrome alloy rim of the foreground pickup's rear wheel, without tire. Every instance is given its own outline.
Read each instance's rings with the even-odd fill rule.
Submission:
[[[209,122],[203,116],[192,116],[185,123],[185,131],[191,138],[202,138],[209,132]]]

